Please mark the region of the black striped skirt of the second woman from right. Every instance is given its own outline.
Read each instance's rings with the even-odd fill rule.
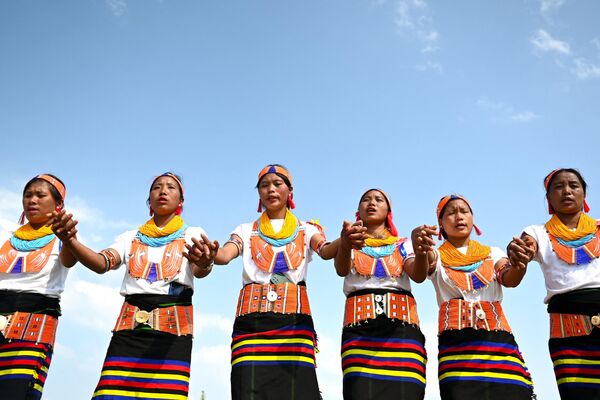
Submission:
[[[439,336],[438,377],[444,400],[531,399],[533,383],[511,333],[466,328]]]

